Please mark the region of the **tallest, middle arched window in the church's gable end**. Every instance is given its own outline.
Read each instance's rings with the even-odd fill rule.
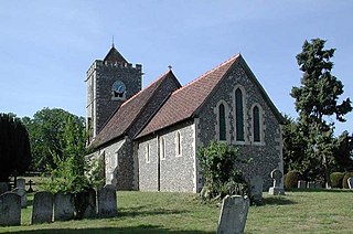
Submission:
[[[235,91],[235,123],[236,140],[244,141],[244,105],[240,88]]]

